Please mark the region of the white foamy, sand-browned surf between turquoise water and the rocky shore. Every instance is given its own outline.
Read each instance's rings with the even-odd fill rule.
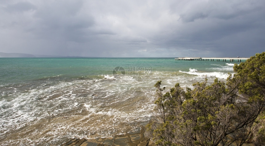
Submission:
[[[198,70],[190,69],[189,72],[198,73]],[[153,71],[153,74],[149,76],[150,79],[134,78],[128,75],[123,78],[99,75],[97,78],[100,77],[100,79],[60,81],[59,83],[47,81],[39,84],[38,87],[27,90],[26,93],[18,90],[18,92],[12,93],[16,100],[6,103],[1,99],[0,105],[7,104],[5,108],[9,109],[2,110],[11,111],[9,114],[14,116],[0,119],[0,126],[2,124],[6,128],[1,129],[0,127],[0,131],[27,126],[26,123],[28,125],[39,124],[39,120],[45,127],[32,130],[27,136],[43,133],[41,136],[44,138],[31,139],[33,140],[32,145],[41,145],[43,140],[49,141],[48,139],[52,139],[50,141],[62,140],[66,135],[68,137],[88,136],[88,138],[114,136],[114,133],[116,135],[127,130],[135,130],[139,128],[139,125],[148,123],[153,116],[152,111],[156,99],[153,85],[158,80],[162,80],[163,86],[167,86],[168,90],[175,83],[191,86],[192,83],[201,81],[203,78],[170,71]],[[18,113],[19,110],[21,113]],[[73,116],[75,114],[78,118]],[[19,116],[15,117],[16,115]],[[15,121],[7,121],[8,118]],[[50,121],[47,122],[43,119]],[[56,122],[56,120],[60,122]],[[16,126],[13,128],[12,124]],[[57,128],[53,129],[53,127]],[[46,131],[49,132],[46,133]],[[88,133],[93,134],[90,136]],[[48,138],[45,139],[46,137]],[[27,144],[19,142],[22,145]]]

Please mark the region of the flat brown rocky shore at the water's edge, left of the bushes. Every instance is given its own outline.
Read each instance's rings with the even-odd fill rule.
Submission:
[[[136,132],[130,132],[114,137],[96,139],[71,139],[62,146],[155,146],[145,137],[145,127]]]

